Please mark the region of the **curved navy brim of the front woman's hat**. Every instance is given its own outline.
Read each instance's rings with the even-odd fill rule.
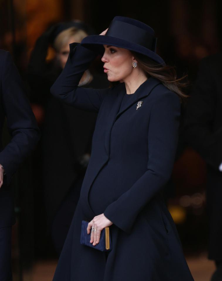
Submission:
[[[138,45],[133,42],[129,42],[120,38],[106,36],[106,35],[89,35],[80,43],[83,47],[88,48],[90,50],[96,51],[99,54],[103,55],[104,53],[104,46],[103,45],[110,45],[115,47],[120,47],[124,49],[128,49],[130,51],[134,51],[140,54],[143,54],[150,59],[154,60],[158,64],[165,65],[164,60],[158,56],[155,52]]]

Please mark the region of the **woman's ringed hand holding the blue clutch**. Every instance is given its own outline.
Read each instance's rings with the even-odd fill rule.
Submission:
[[[93,246],[99,243],[101,231],[107,227],[112,225],[113,223],[107,219],[104,214],[100,214],[99,216],[94,217],[91,222],[89,222],[87,227],[87,233],[90,234],[91,228],[94,227],[96,231],[91,231],[91,239],[90,243],[93,243]]]

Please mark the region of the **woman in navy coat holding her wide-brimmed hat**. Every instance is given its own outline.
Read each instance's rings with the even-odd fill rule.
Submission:
[[[152,28],[120,16],[108,31],[70,44],[65,69],[51,92],[98,117],[53,281],[193,280],[161,195],[174,164],[183,94],[174,77],[166,75],[169,68],[155,46]],[[101,51],[108,80],[119,83],[107,89],[78,87]],[[111,251],[80,244],[82,220],[89,221],[92,245],[110,227]]]

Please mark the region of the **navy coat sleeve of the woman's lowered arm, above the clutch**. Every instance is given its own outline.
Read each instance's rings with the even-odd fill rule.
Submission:
[[[104,211],[117,227],[131,233],[140,211],[170,179],[178,142],[179,97],[170,91],[151,110],[148,128],[147,171]]]

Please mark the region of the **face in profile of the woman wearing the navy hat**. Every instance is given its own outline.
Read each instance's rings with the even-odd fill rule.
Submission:
[[[124,81],[133,71],[132,62],[135,61],[132,53],[124,48],[103,45],[104,72],[109,81]]]

